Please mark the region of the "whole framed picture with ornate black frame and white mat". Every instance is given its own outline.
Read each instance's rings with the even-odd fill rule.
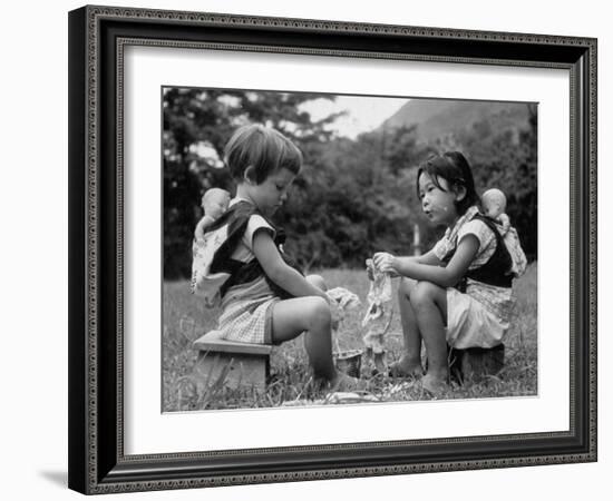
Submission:
[[[69,487],[596,460],[596,40],[69,13]]]

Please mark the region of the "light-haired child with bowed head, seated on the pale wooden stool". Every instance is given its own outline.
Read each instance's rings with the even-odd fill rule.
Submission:
[[[283,252],[282,232],[270,220],[300,171],[300,150],[279,131],[250,125],[235,131],[224,158],[237,185],[236,196],[205,234],[205,239],[213,236],[207,242],[217,239],[207,272],[211,284],[221,284],[221,336],[280,344],[304,333],[317,380],[337,389],[360,386],[333,365],[323,279],[302,275]]]

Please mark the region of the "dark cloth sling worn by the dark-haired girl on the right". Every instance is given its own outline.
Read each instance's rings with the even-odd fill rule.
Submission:
[[[481,266],[479,266],[478,268],[468,271],[460,278],[460,281],[455,285],[455,287],[458,291],[465,293],[468,278],[470,278],[473,281],[477,281],[483,284],[495,285],[496,287],[510,288],[513,283],[513,274],[510,273],[513,261],[510,258],[510,254],[507,249],[507,246],[505,245],[503,236],[496,228],[496,224],[494,223],[493,219],[486,216],[481,216],[480,214],[475,215],[473,219],[479,219],[492,230],[492,233],[496,238],[496,250],[494,250],[494,254]],[[446,264],[449,263],[449,261],[451,261],[451,257],[454,256],[455,253],[456,253],[456,248],[450,250],[444,257],[442,259],[444,263]]]

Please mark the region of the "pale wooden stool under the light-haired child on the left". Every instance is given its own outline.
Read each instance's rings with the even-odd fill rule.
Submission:
[[[198,350],[195,372],[205,385],[265,391],[272,346],[225,341],[212,331],[194,341],[194,348]]]

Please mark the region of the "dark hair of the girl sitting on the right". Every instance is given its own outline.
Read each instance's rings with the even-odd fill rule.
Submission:
[[[428,174],[435,186],[442,189],[438,179],[442,178],[449,185],[449,188],[457,190],[463,187],[466,190],[466,196],[456,202],[456,208],[459,215],[473,205],[479,205],[479,195],[475,189],[475,179],[473,170],[466,157],[459,151],[447,151],[442,155],[435,155],[424,161],[417,171],[417,196],[419,197],[419,177],[421,174]],[[445,189],[442,189],[445,191]]]

